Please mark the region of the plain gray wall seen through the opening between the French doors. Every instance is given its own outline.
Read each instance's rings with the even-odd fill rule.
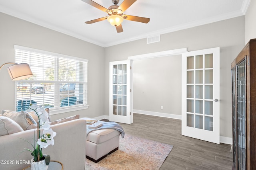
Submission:
[[[181,55],[136,60],[133,68],[134,109],[180,115]]]

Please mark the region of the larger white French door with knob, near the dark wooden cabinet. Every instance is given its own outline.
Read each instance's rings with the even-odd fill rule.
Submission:
[[[220,143],[220,48],[182,54],[182,135]]]

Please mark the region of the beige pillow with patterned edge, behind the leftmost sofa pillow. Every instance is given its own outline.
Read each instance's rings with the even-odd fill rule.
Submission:
[[[9,111],[2,110],[2,116],[9,117],[14,120],[16,123],[22,127],[23,130],[26,130],[26,127],[31,124],[36,124],[36,121],[32,116],[26,111]]]

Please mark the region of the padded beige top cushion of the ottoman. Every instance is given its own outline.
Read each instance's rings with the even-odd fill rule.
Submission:
[[[87,141],[91,141],[96,144],[103,143],[115,136],[120,135],[120,132],[114,129],[100,129],[92,131],[87,135]]]

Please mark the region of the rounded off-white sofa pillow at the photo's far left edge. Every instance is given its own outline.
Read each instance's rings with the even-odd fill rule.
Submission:
[[[21,132],[23,129],[14,120],[0,116],[0,136]]]

